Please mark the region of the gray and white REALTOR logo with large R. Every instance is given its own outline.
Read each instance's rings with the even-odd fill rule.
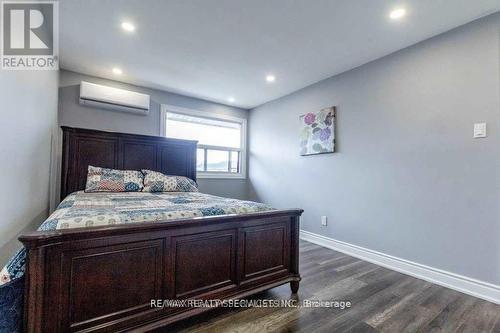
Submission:
[[[58,69],[58,3],[2,1],[2,69]]]

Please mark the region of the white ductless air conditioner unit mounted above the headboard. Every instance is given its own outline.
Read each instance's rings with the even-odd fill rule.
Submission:
[[[149,95],[82,81],[80,104],[101,109],[149,114]]]

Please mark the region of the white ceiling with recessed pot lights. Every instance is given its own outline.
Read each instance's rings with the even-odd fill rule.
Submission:
[[[407,10],[397,22],[396,7]],[[498,10],[500,0],[62,0],[60,61],[252,108]]]

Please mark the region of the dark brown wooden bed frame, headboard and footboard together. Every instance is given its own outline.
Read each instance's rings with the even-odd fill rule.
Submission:
[[[196,180],[196,142],[63,127],[61,198],[87,166],[152,169]],[[37,231],[27,249],[27,332],[149,331],[209,308],[157,299],[235,299],[299,288],[301,209]]]

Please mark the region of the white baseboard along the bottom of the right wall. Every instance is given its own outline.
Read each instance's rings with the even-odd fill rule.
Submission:
[[[500,304],[500,286],[301,230],[300,238],[443,287]]]

